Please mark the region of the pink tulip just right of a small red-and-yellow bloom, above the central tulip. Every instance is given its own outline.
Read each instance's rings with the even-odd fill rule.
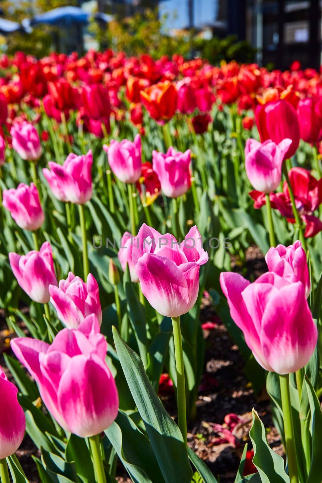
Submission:
[[[158,175],[163,193],[169,198],[178,198],[191,186],[190,149],[176,152],[170,146],[166,154],[152,152],[153,170]]]

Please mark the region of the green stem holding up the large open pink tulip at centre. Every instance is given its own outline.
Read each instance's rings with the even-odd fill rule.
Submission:
[[[182,433],[183,441],[187,443],[187,416],[180,317],[172,318],[172,327],[177,371],[178,426]]]

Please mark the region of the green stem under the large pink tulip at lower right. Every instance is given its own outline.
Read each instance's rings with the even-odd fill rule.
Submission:
[[[295,452],[294,427],[289,387],[289,375],[280,375],[280,395],[284,418],[285,450],[289,468],[290,483],[298,483],[297,464]]]

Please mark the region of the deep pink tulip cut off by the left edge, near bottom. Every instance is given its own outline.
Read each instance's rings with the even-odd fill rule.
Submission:
[[[18,389],[0,366],[0,460],[13,455],[24,439],[25,413],[18,403]]]

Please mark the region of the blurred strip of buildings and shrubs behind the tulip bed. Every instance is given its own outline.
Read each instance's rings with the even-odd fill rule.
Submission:
[[[25,17],[31,19],[32,14],[67,5],[81,7],[88,14],[109,14],[112,19],[103,22],[99,29],[88,28],[89,21],[77,24],[76,17],[75,25],[70,21],[67,28],[62,27],[61,21],[56,24],[55,31],[51,28],[51,38],[59,37],[58,48],[67,53],[99,46],[137,55],[141,43],[142,52],[145,49],[154,57],[171,55],[172,48],[185,57],[203,55],[213,63],[235,58],[280,69],[287,69],[294,60],[299,60],[304,68],[318,69],[321,65],[322,0],[0,0],[0,31],[1,16],[19,23]],[[154,16],[147,17],[146,9],[154,11]],[[157,21],[163,35],[159,39]],[[13,24],[7,27],[14,28]],[[38,34],[41,39],[41,28]],[[18,32],[14,44],[14,35],[8,33],[9,52],[18,46],[19,35],[24,34]],[[36,30],[31,35],[36,36]],[[133,40],[136,35],[137,42]],[[30,48],[34,45],[33,40]],[[40,50],[42,55],[46,49],[45,45]]]

